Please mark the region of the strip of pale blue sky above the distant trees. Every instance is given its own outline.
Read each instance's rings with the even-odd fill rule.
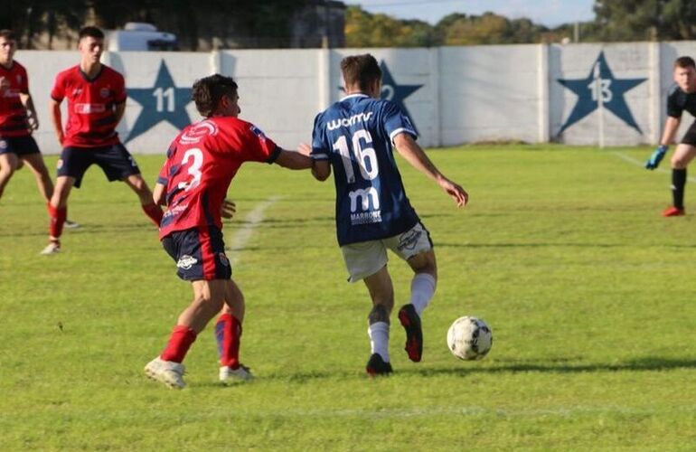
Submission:
[[[595,0],[343,0],[346,5],[361,5],[373,14],[388,14],[399,19],[419,19],[437,24],[447,14],[484,14],[491,11],[510,19],[527,17],[535,24],[554,27],[595,18]]]

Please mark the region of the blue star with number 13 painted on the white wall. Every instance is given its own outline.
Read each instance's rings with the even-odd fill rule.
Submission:
[[[579,80],[564,80],[557,81],[564,87],[573,91],[578,95],[578,103],[570,112],[570,116],[566,122],[560,127],[559,135],[568,127],[572,126],[580,119],[585,118],[590,113],[597,109],[599,98],[597,96],[597,83],[595,80],[595,68],[599,67],[599,79],[601,80],[601,96],[604,108],[616,115],[616,118],[621,119],[626,125],[635,128],[639,133],[643,133],[641,128],[635,122],[631,110],[625,103],[624,95],[626,91],[634,89],[647,79],[616,79],[614,74],[609,69],[607,59],[604,52],[599,52],[597,60],[592,63],[588,77]]]

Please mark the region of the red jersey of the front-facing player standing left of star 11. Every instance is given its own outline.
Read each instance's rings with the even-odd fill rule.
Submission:
[[[123,76],[108,66],[89,79],[80,66],[56,76],[53,100],[68,99],[68,121],[63,146],[101,147],[118,143],[114,108],[126,101]]]

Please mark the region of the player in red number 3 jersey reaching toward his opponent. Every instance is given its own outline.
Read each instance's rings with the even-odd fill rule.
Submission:
[[[259,128],[243,121],[237,83],[219,74],[193,84],[193,101],[206,119],[183,129],[167,151],[155,184],[155,202],[166,204],[160,239],[176,262],[177,275],[191,281],[193,302],[174,326],[165,351],[148,363],[146,375],[170,388],[183,388],[183,358],[197,334],[221,312],[215,325],[220,380],[251,379],[240,363],[244,297],[231,279],[222,241],[221,207],[232,178],[244,162],[311,167],[307,155],[283,150]]]

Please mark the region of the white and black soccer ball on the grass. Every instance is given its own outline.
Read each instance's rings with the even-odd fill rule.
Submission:
[[[493,332],[480,318],[459,317],[447,331],[447,346],[460,360],[480,360],[493,346]]]

